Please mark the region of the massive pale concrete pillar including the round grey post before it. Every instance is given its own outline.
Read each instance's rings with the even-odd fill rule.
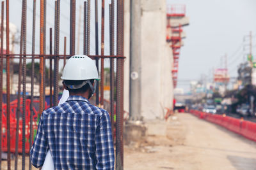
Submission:
[[[173,57],[166,27],[165,1],[125,1],[124,110],[131,120],[163,119],[172,110]]]

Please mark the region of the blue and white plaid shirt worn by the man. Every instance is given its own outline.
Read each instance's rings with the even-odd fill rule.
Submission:
[[[108,111],[81,96],[45,110],[30,151],[33,166],[43,166],[48,149],[55,169],[114,169]]]

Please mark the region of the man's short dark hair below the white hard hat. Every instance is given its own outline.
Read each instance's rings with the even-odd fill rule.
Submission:
[[[65,85],[80,85],[81,83],[83,83],[84,80],[63,80]],[[94,79],[91,79],[90,82],[93,84]],[[68,92],[71,93],[84,93],[87,90],[91,90],[90,89],[90,85],[89,83],[86,83],[86,85],[84,85],[83,87],[79,88],[79,89],[69,89],[67,87]]]

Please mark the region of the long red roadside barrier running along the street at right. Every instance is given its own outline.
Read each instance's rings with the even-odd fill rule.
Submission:
[[[256,141],[256,123],[227,117],[225,115],[213,115],[211,113],[204,113],[197,110],[190,110],[190,113],[198,118],[212,122],[213,124],[221,125],[229,131],[241,134],[245,138]]]

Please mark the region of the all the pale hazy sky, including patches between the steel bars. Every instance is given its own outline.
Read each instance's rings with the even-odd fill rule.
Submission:
[[[157,0],[164,1],[164,0]],[[227,54],[228,71],[230,76],[237,76],[237,66],[245,60],[248,53],[248,34],[253,34],[253,55],[256,56],[256,1],[255,0],[166,0],[167,4],[186,4],[186,16],[189,17],[189,25],[184,27],[186,39],[184,46],[180,50],[179,76],[177,87],[189,90],[189,81],[200,80],[207,77],[212,80],[213,70],[224,67],[223,56]],[[79,27],[79,8],[83,6],[82,0],[76,1],[76,38],[79,38],[79,52],[83,53],[83,22]],[[36,1],[36,53],[39,53],[39,8],[40,1]],[[110,0],[105,0],[105,28],[108,32],[108,4]],[[32,39],[32,12],[33,0],[28,0],[28,20],[27,20],[27,53],[31,51]],[[20,31],[22,0],[10,1],[10,22],[17,25]],[[61,0],[60,10],[60,42],[63,43],[64,36],[67,36],[67,53],[69,53],[69,15],[70,0]],[[99,1],[99,7],[101,1]],[[94,9],[94,1],[91,4]],[[115,7],[116,8],[116,7]],[[100,20],[99,16],[99,38]],[[81,20],[83,21],[83,10],[81,10]],[[91,54],[95,53],[95,15],[91,15]],[[47,1],[47,35],[46,51],[49,53],[49,28],[54,29],[54,1]],[[53,33],[53,32],[52,32]],[[244,41],[244,36],[246,39]],[[109,35],[105,34],[105,41]],[[19,34],[17,34],[19,40]],[[63,53],[63,44],[60,43],[60,53]],[[100,39],[99,39],[100,46]],[[77,41],[76,41],[77,50]],[[15,51],[19,53],[19,43],[15,46]],[[109,54],[109,46],[105,46],[105,54]],[[256,58],[256,57],[255,57]],[[28,61],[29,62],[29,61]],[[49,63],[46,63],[49,65]],[[108,66],[108,62],[106,66]],[[60,63],[60,69],[61,69]]]

